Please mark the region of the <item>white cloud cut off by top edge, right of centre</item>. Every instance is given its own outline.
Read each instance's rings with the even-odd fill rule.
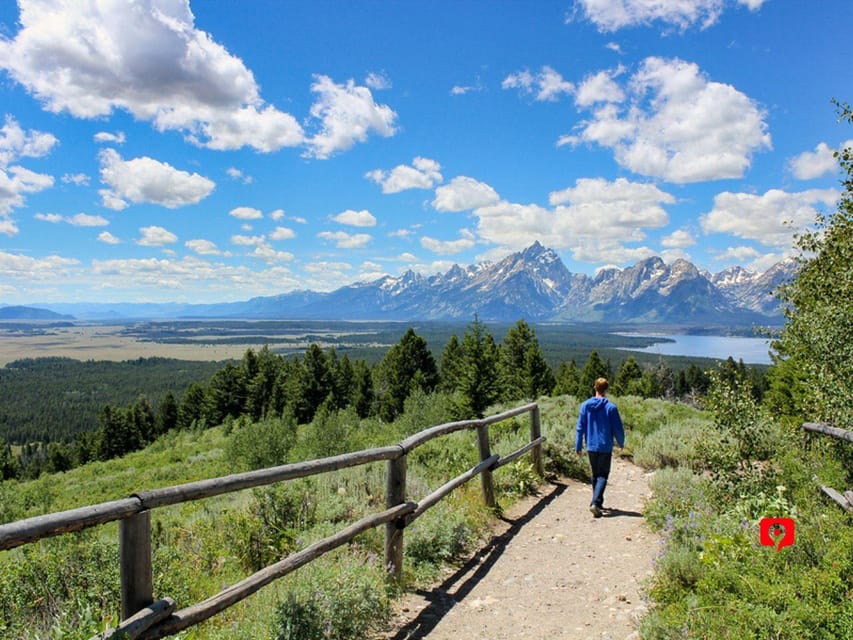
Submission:
[[[679,31],[698,25],[706,29],[735,4],[757,11],[766,0],[576,0],[575,11],[593,22],[599,31],[663,23]],[[574,17],[574,16],[573,16]],[[571,19],[571,18],[570,18]]]

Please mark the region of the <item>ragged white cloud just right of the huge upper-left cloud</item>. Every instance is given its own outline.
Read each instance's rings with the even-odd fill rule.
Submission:
[[[364,142],[371,132],[393,136],[397,114],[388,105],[376,104],[367,87],[349,80],[337,84],[324,75],[314,77],[311,91],[318,95],[311,115],[320,121],[320,131],[307,141],[307,155],[325,159],[338,151]]]

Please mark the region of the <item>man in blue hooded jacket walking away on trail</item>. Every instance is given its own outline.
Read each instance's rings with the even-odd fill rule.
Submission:
[[[601,509],[604,507],[604,488],[610,475],[614,438],[620,449],[625,446],[625,431],[619,410],[605,397],[609,387],[607,378],[595,381],[595,397],[581,405],[575,439],[575,451],[578,455],[581,455],[586,440],[589,465],[592,467],[592,502],[589,510],[596,518],[601,517]]]

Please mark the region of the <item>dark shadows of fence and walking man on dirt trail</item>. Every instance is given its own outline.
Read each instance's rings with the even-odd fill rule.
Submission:
[[[435,629],[438,623],[441,622],[441,619],[453,607],[455,607],[457,603],[464,600],[471,590],[477,586],[477,583],[479,583],[480,580],[489,573],[489,570],[495,565],[498,558],[503,555],[509,542],[519,531],[521,531],[524,525],[542,513],[545,507],[562,495],[569,486],[559,481],[551,481],[550,484],[553,485],[555,489],[547,496],[542,497],[523,516],[516,518],[515,520],[502,517],[501,520],[512,526],[499,536],[493,537],[485,547],[480,549],[456,572],[438,585],[438,587],[432,591],[417,591],[419,595],[423,596],[429,602],[429,605],[418,614],[417,618],[401,628],[389,640],[423,640],[423,638],[426,638],[430,631]],[[618,511],[616,509],[612,511],[617,512],[617,515],[636,515],[642,517],[642,514],[635,513],[633,511]],[[474,572],[470,576],[466,577],[466,575],[472,570],[474,570]],[[463,579],[464,582],[461,582],[454,594],[450,595],[449,591],[457,584],[457,582]]]

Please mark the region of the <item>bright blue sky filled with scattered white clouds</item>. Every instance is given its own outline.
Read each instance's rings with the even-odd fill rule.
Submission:
[[[839,195],[849,0],[0,3],[0,303],[498,260],[763,270]]]

